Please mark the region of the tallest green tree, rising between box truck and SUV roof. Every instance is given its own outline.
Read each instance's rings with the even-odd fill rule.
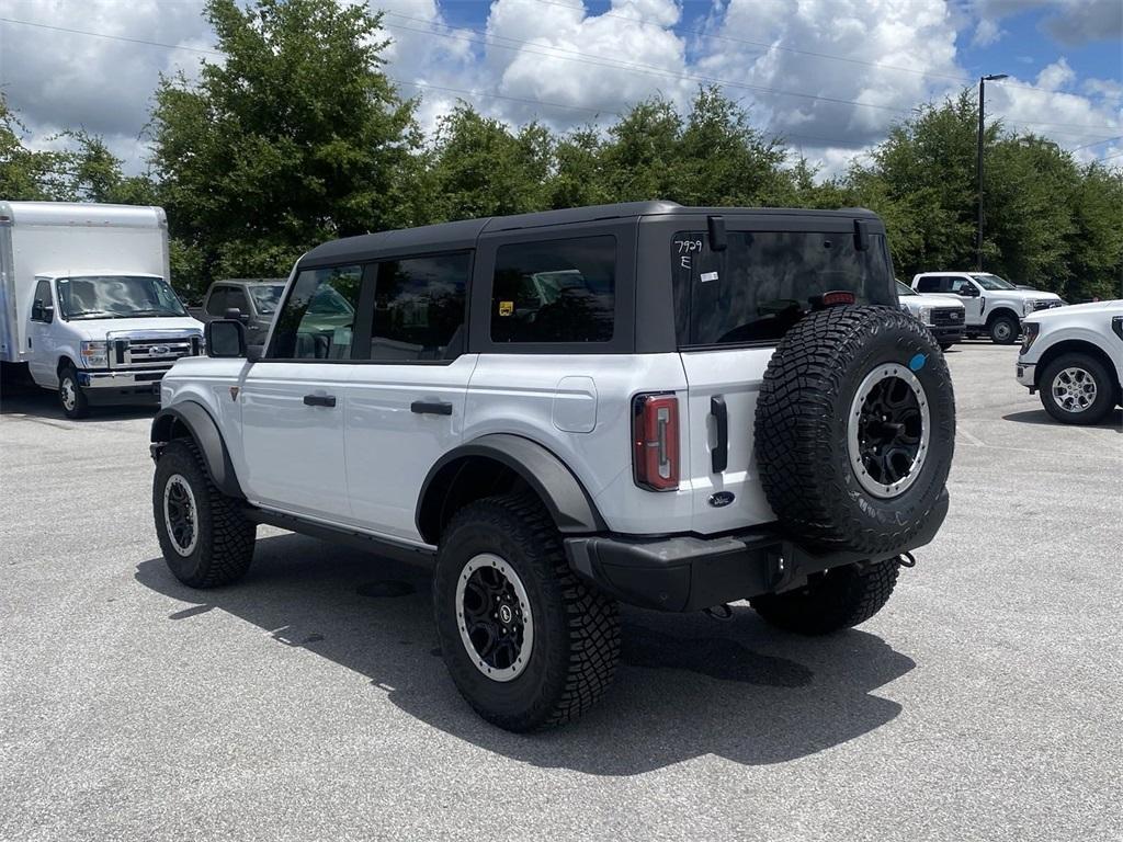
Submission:
[[[204,13],[225,61],[195,83],[163,79],[152,115],[194,284],[284,274],[317,242],[412,222],[420,135],[381,71],[381,15],[335,0],[208,0]]]

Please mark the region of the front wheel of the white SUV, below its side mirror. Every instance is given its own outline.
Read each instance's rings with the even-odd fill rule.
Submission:
[[[190,439],[175,439],[164,448],[152,504],[164,560],[184,585],[218,587],[246,575],[257,528],[238,501],[214,487]]]

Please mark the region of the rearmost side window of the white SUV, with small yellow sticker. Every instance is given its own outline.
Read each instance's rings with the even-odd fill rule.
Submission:
[[[617,238],[500,246],[493,342],[606,342],[615,310]]]

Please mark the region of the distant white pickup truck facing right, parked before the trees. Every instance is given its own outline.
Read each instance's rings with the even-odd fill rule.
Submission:
[[[967,336],[986,333],[997,345],[1013,345],[1021,320],[1039,310],[1063,306],[1052,292],[1020,290],[1005,278],[987,272],[922,272],[913,277],[921,295],[958,295],[967,309]]]

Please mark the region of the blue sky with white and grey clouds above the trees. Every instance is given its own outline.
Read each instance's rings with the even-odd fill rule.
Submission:
[[[0,84],[30,143],[82,126],[143,168],[159,73],[214,61],[202,0],[0,0]],[[608,122],[720,84],[827,173],[917,103],[987,85],[987,115],[1123,164],[1120,0],[381,0],[387,73],[427,127],[457,99],[519,123]]]

